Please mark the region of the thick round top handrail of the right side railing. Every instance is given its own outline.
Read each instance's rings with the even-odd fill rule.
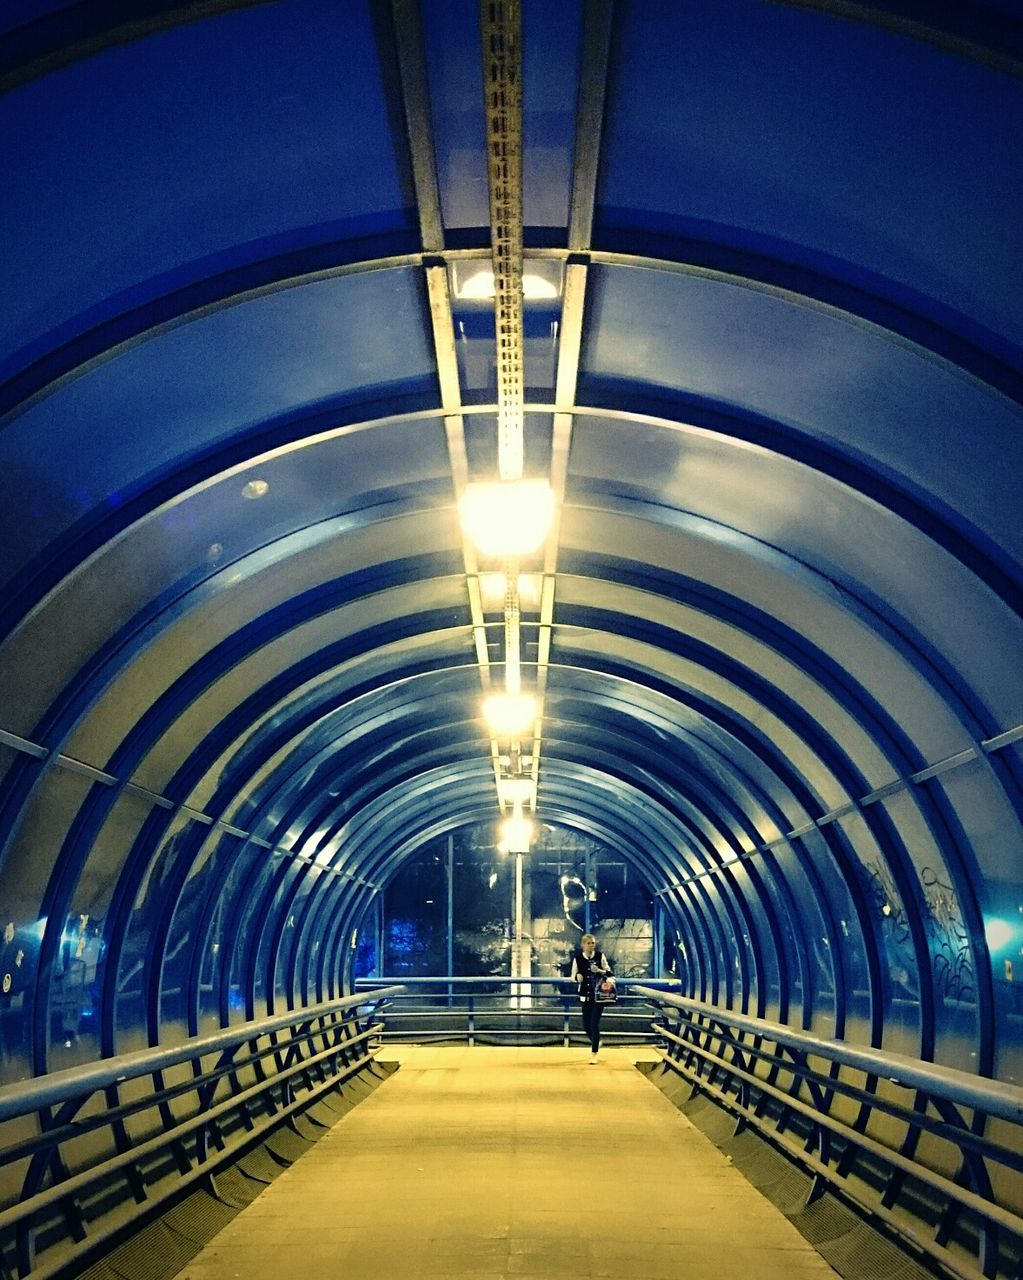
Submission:
[[[777,1044],[796,1048],[803,1053],[816,1053],[834,1062],[858,1068],[867,1075],[881,1076],[892,1084],[922,1089],[924,1093],[946,1098],[949,1102],[958,1102],[960,1106],[976,1107],[987,1115],[1009,1120],[1013,1124],[1023,1123],[1023,1088],[1015,1084],[972,1075],[969,1071],[940,1066],[936,1062],[924,1062],[901,1053],[889,1053],[880,1048],[859,1048],[846,1041],[822,1039],[810,1032],[794,1030],[782,1023],[750,1018],[746,1014],[734,1014],[717,1005],[705,1005],[698,1000],[657,991],[649,986],[634,987],[632,993],[653,1000],[656,1004],[671,1005],[686,1012],[699,1014],[736,1030],[764,1036]]]

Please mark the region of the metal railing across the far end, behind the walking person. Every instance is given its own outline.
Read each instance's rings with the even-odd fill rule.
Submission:
[[[583,1019],[574,982],[565,978],[360,978],[356,991],[376,993],[380,984],[402,983],[401,996],[380,1009],[380,1038],[389,1042],[458,1041],[475,1043],[583,1043]],[[608,1044],[649,1043],[650,1006],[635,995],[649,978],[617,978],[618,1000],[600,1019]],[[658,984],[659,991],[677,982]]]

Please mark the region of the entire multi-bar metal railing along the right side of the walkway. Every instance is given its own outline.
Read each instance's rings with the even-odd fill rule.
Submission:
[[[964,1280],[1023,1275],[1023,1089],[636,987],[663,1073],[825,1193]]]

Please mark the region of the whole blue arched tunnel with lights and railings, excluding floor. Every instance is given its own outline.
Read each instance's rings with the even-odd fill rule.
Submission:
[[[810,1234],[1015,1274],[1015,10],[4,6],[12,1276],[219,1221],[417,984],[574,1050],[583,932]]]

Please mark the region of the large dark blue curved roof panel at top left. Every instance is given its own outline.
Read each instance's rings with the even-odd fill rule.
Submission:
[[[4,224],[33,250],[8,256],[3,349],[82,314],[95,324],[119,294],[120,308],[138,306],[268,256],[407,229],[370,6],[353,0],[337,19],[329,0],[248,5],[118,41],[6,93],[0,165],[19,180]],[[88,252],[65,253],[67,221],[47,216],[69,206]]]

